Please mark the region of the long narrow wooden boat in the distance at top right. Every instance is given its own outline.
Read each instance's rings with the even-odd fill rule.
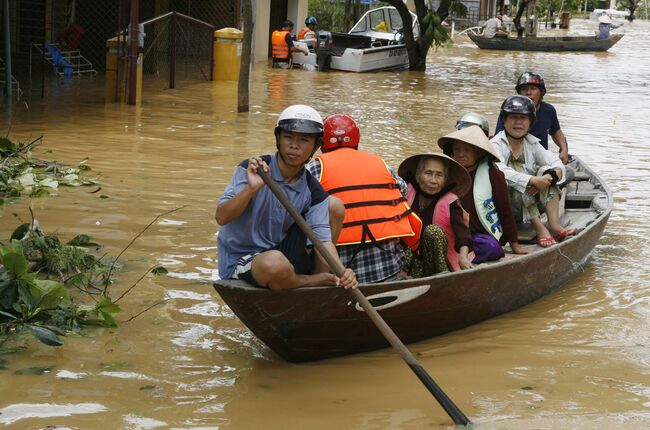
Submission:
[[[612,34],[608,39],[599,40],[595,36],[557,36],[557,37],[493,37],[485,38],[468,33],[472,42],[481,49],[508,51],[607,51],[621,40],[623,34]]]

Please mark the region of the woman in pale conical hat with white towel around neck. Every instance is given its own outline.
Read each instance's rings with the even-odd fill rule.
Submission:
[[[463,166],[471,178],[471,191],[460,202],[469,213],[476,254],[473,263],[503,257],[501,246],[506,243],[510,243],[515,254],[527,254],[517,239],[508,184],[494,164],[499,157],[483,130],[476,125],[462,128],[438,139],[438,146]]]

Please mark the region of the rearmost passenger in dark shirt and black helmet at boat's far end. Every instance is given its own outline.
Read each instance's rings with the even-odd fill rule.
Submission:
[[[535,103],[536,119],[530,130],[530,134],[539,139],[539,143],[544,149],[548,149],[548,136],[550,135],[553,142],[560,148],[560,160],[562,160],[562,163],[567,164],[569,162],[569,146],[566,141],[566,136],[564,136],[560,128],[560,121],[557,119],[555,107],[543,101],[544,95],[546,94],[546,84],[542,75],[534,72],[522,73],[517,79],[515,91],[517,94],[526,96]],[[494,134],[502,130],[503,121],[501,120],[501,116],[499,116]]]

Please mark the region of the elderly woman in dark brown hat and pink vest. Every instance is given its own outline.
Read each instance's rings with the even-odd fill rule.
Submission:
[[[404,271],[413,277],[471,269],[474,253],[469,215],[460,204],[471,187],[467,171],[444,154],[421,154],[400,164],[406,199],[422,219],[420,247],[407,253]]]

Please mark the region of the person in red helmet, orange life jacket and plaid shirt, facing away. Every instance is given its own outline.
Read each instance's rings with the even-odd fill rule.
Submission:
[[[406,183],[380,157],[360,151],[359,140],[354,119],[328,116],[323,154],[307,169],[330,194],[330,216],[343,221],[341,262],[359,282],[380,282],[400,272],[405,249],[417,250],[422,221],[406,203]]]

